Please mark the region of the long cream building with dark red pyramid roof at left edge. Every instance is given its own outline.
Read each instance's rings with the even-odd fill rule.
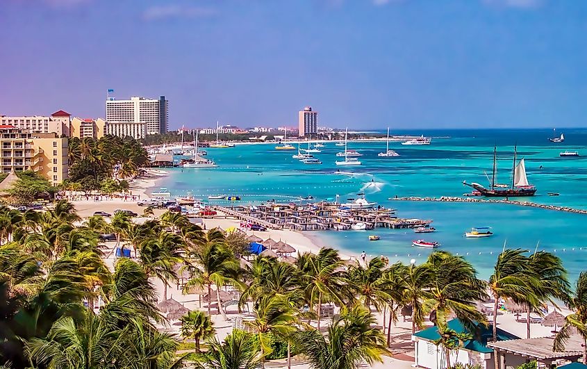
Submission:
[[[55,133],[57,136],[69,136],[71,117],[71,114],[63,110],[58,110],[49,116],[8,117],[0,115],[0,124],[14,126],[31,133]]]

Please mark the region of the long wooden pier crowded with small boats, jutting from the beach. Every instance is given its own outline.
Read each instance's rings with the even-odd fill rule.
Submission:
[[[397,218],[394,209],[382,208],[341,208],[340,204],[321,202],[317,204],[261,204],[259,206],[212,206],[243,222],[258,224],[267,229],[292,229],[295,231],[345,231],[390,228],[405,229],[427,227],[432,220]]]

